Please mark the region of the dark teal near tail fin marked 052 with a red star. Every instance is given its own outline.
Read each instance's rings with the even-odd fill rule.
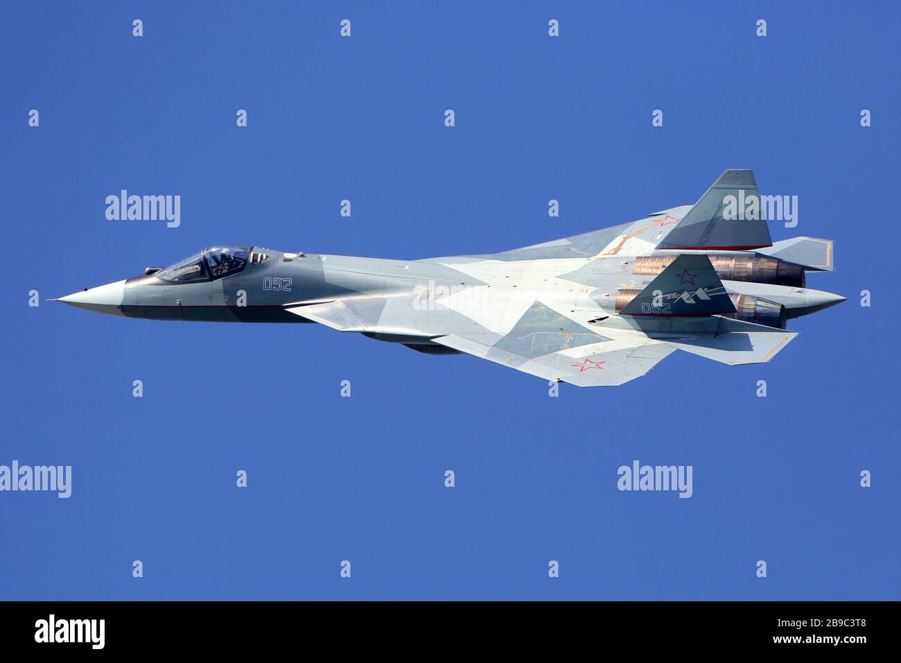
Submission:
[[[619,311],[623,316],[712,316],[735,306],[704,253],[682,253]]]

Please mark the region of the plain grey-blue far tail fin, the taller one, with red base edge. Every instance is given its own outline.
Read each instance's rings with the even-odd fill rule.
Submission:
[[[733,201],[727,201],[729,196]],[[751,197],[756,198],[757,213],[749,220],[744,211]],[[728,205],[734,206],[737,218],[724,217]],[[769,246],[772,240],[762,216],[754,171],[726,170],[657,248],[744,251]]]

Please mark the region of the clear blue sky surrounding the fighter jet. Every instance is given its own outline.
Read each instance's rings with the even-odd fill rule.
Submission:
[[[72,465],[73,486],[0,493],[0,598],[901,598],[896,5],[2,13],[0,464]],[[798,196],[798,226],[771,233],[835,240],[837,271],[808,285],[849,298],[792,321],[769,364],[676,353],[549,398],[496,364],[325,327],[45,300],[211,244],[492,253],[691,204],[727,168]],[[181,226],[107,221],[120,189],[180,195]],[[692,465],[693,496],[618,492],[634,459]]]

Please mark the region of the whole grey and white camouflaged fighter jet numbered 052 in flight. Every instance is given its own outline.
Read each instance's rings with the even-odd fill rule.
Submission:
[[[676,350],[769,362],[787,320],[845,298],[806,287],[833,242],[773,244],[751,170],[693,206],[487,255],[383,260],[214,246],[60,298],[126,318],[319,323],[431,355],[465,353],[553,382],[629,382]],[[751,208],[751,207],[749,207]]]

